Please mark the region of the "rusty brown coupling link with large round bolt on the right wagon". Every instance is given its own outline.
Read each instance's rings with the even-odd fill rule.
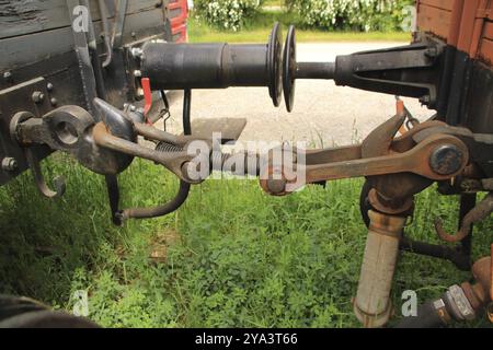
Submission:
[[[400,121],[395,122],[397,120]],[[469,149],[460,138],[444,133],[427,133],[426,138],[420,137],[427,129],[443,126],[443,122],[423,122],[402,137],[394,138],[401,122],[403,119],[397,115],[378,128],[377,133],[368,137],[368,140],[378,147],[387,144],[387,152],[379,151],[381,156],[367,152],[371,149],[367,142],[354,147],[306,151],[305,163],[279,165],[274,164],[271,156],[261,176],[261,187],[271,195],[285,196],[306,184],[322,180],[414,174],[432,184],[433,180],[452,178],[463,171],[469,162]],[[366,153],[370,158],[368,155],[365,158]],[[456,162],[447,162],[444,154],[454,155]],[[426,159],[429,161],[423,161]],[[279,176],[279,167],[283,168],[280,178],[275,179],[275,176]],[[305,178],[300,180],[283,173],[284,170],[288,170],[289,173],[293,168]]]

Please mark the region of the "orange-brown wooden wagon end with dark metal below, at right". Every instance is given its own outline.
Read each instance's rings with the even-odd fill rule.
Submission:
[[[417,25],[447,45],[439,113],[451,125],[493,132],[493,2],[419,0]]]

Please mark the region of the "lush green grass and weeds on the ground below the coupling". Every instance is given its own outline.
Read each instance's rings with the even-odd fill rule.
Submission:
[[[176,213],[118,229],[101,176],[60,155],[45,172],[67,177],[62,199],[42,198],[30,174],[0,189],[2,293],[70,311],[70,295],[84,289],[90,317],[107,327],[359,326],[351,298],[366,238],[360,180],[286,198],[264,195],[256,182],[209,180]],[[163,202],[177,187],[141,161],[121,179],[125,207]],[[456,200],[429,189],[419,196],[408,233],[437,242],[433,218],[444,217],[451,230],[456,210]],[[489,254],[492,228],[492,220],[479,225],[475,257]],[[161,262],[149,258],[157,242],[168,242]],[[399,310],[408,289],[422,301],[436,298],[469,277],[449,262],[404,254],[394,302]],[[468,326],[486,325],[482,318]]]

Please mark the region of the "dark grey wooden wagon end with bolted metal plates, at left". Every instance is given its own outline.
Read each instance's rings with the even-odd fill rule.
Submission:
[[[186,40],[186,0],[2,1],[2,135],[19,110],[42,116],[64,105],[93,110],[96,96],[119,108],[141,100],[129,48],[152,39]],[[0,171],[0,184],[27,168],[23,152],[2,137],[4,158],[15,159],[16,166]]]

